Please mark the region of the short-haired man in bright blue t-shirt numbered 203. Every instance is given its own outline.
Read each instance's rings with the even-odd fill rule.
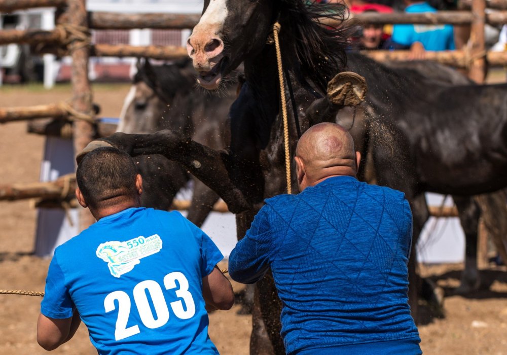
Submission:
[[[230,309],[211,239],[179,212],[140,206],[131,157],[98,148],[80,162],[76,197],[97,223],[56,248],[37,340],[46,350],[81,323],[99,354],[216,354],[207,310]]]

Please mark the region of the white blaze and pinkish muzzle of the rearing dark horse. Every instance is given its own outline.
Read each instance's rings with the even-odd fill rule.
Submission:
[[[221,33],[227,19],[227,0],[211,0],[187,42],[187,51],[198,72],[208,72],[222,58]]]

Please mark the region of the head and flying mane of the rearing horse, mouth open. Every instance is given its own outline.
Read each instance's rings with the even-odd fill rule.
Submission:
[[[202,17],[187,41],[197,82],[214,90],[242,61],[245,67],[257,62],[266,46],[274,47],[267,42],[272,43],[278,22],[284,66],[300,70],[301,77],[317,81],[325,92],[327,82],[345,64],[348,32],[343,24],[335,28],[320,22],[343,20],[346,13],[343,4],[306,0],[205,0]]]

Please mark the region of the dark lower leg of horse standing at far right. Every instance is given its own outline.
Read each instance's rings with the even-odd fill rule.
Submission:
[[[476,291],[481,285],[477,269],[477,235],[481,210],[472,197],[452,196],[458,209],[459,222],[465,234],[465,269],[461,275],[461,285],[456,289],[458,294]]]

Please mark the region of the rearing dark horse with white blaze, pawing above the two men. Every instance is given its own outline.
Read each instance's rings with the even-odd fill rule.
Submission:
[[[214,151],[167,130],[116,133],[92,143],[88,150],[113,145],[132,155],[162,154],[185,165],[237,214],[238,235],[244,235],[263,199],[286,191],[276,53],[266,43],[273,24],[281,25],[286,94],[293,98],[288,110],[293,151],[300,132],[329,120],[342,108],[343,101],[334,101],[327,88],[345,64],[348,34],[343,27],[321,26],[318,19],[343,20],[344,15],[341,4],[309,5],[306,0],[206,0],[188,42],[199,84],[217,89],[231,70],[244,63],[246,82],[230,111],[228,150]],[[340,97],[340,87],[345,91],[347,87],[337,86],[334,94]],[[297,188],[294,176],[292,187]],[[272,277],[267,276],[257,285],[251,353],[284,352],[279,309]]]

